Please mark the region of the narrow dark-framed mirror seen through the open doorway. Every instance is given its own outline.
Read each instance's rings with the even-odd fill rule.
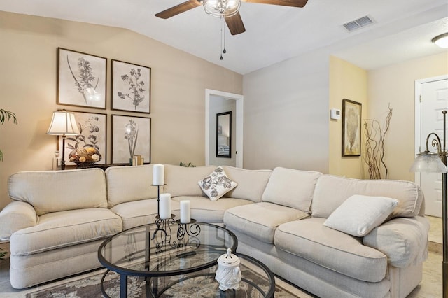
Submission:
[[[231,158],[232,111],[216,114],[216,157]]]

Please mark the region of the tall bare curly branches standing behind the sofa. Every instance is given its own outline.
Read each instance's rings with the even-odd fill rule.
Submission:
[[[381,129],[381,125],[376,119],[364,120],[365,152],[363,159],[368,166],[370,179],[381,179],[381,173],[384,173],[384,178],[387,179],[388,169],[384,162],[384,143],[386,133],[391,125],[391,118],[392,108],[389,104],[384,129]]]

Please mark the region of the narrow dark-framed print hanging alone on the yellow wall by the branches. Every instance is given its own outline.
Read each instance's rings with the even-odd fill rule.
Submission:
[[[342,100],[342,156],[361,155],[361,111],[360,103]]]

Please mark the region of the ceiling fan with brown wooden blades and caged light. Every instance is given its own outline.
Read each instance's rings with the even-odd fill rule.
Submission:
[[[217,17],[225,17],[225,23],[229,27],[230,33],[236,35],[246,31],[243,20],[241,20],[241,15],[239,15],[240,1],[301,8],[307,4],[308,0],[189,0],[167,10],[163,10],[155,16],[168,19],[169,17],[174,17],[174,15],[179,15],[179,13],[184,13],[187,10],[203,5],[207,13]]]

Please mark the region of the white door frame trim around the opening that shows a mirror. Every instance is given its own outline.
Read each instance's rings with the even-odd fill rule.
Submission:
[[[235,166],[237,168],[243,167],[243,107],[244,97],[241,94],[223,92],[218,90],[205,90],[205,165],[210,163],[210,100],[212,96],[223,97],[225,99],[232,99],[236,101],[236,128],[235,128],[235,152],[237,152],[235,159]]]

